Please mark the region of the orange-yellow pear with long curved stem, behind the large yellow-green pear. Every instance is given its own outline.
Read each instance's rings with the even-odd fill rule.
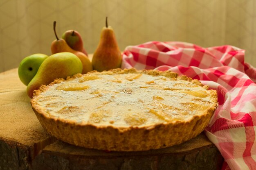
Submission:
[[[82,64],[83,64],[82,74],[92,71],[92,63],[88,59],[88,57],[83,52],[76,51],[76,50],[73,50],[72,48],[70,48],[70,46],[67,45],[67,43],[64,39],[59,39],[56,34],[56,29],[55,29],[56,21],[54,21],[53,25],[54,25],[53,27],[54,27],[54,34],[56,36],[56,40],[54,40],[51,45],[52,54],[56,54],[58,52],[71,52],[71,53],[75,54],[82,62]]]

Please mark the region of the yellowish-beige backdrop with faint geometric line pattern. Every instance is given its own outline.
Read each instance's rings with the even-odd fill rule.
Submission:
[[[256,0],[0,0],[0,72],[49,55],[54,20],[59,37],[75,29],[94,52],[106,16],[121,50],[153,40],[230,44],[256,67]]]

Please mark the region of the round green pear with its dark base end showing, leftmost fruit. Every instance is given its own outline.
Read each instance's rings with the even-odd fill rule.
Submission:
[[[23,84],[28,85],[32,78],[36,75],[41,63],[43,63],[47,57],[47,55],[40,53],[25,57],[20,62],[20,66],[18,68],[20,81]]]

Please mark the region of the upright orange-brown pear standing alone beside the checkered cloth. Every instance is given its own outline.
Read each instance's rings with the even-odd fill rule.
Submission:
[[[92,57],[92,67],[99,72],[120,68],[122,62],[121,52],[117,45],[115,33],[111,26],[108,26],[106,17],[106,27],[101,31],[99,45]]]

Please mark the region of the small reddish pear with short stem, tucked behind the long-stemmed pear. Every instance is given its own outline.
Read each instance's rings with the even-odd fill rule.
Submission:
[[[81,51],[86,56],[88,56],[88,53],[83,48],[83,40],[79,32],[75,30],[68,30],[63,33],[62,39],[64,39],[67,42],[67,45],[70,46],[73,50]]]

